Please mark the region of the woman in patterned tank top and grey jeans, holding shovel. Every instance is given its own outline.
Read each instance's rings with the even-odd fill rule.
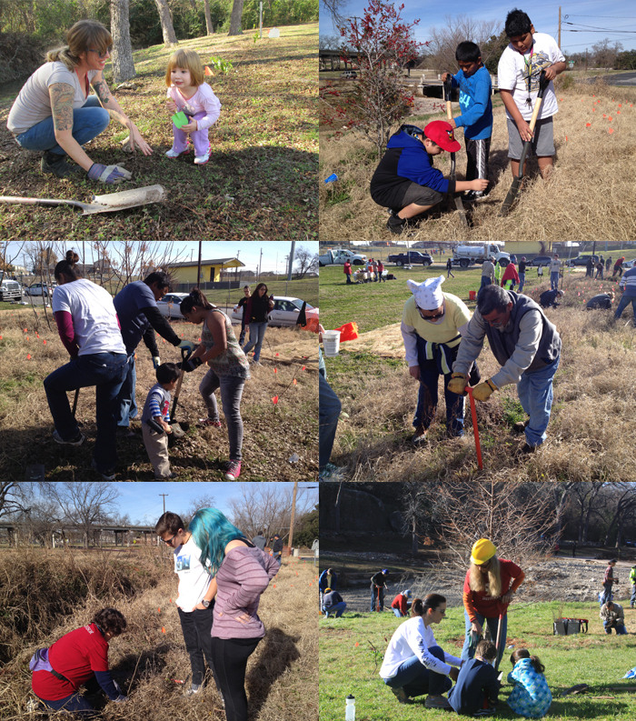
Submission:
[[[230,441],[230,460],[225,464],[225,479],[235,481],[241,475],[243,458],[241,398],[245,381],[250,378],[250,364],[236,340],[230,318],[215,305],[211,305],[199,288],[194,288],[190,295],[181,301],[179,307],[187,321],[204,325],[201,331],[201,345],[180,366],[186,373],[191,373],[203,363],[210,366],[199,386],[199,392],[207,406],[207,418],[201,423],[203,426],[221,427],[219,409],[214,396],[214,391],[220,388],[227,436]],[[252,327],[250,327],[250,337],[253,337]]]

